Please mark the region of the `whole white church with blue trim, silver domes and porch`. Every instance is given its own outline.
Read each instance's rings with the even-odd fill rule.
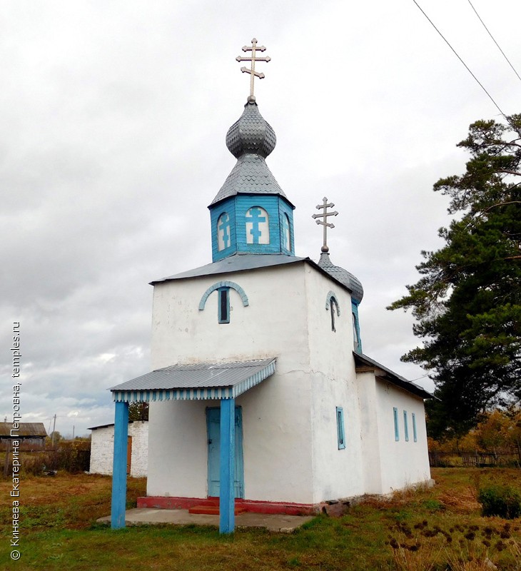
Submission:
[[[153,285],[152,371],[111,388],[113,527],[124,526],[128,403],[148,401],[141,507],[313,513],[430,481],[430,394],[363,354],[363,288],[295,256],[293,209],[265,163],[273,128],[251,95],[210,206],[212,262]],[[319,223],[327,224],[324,199]],[[216,498],[216,500],[213,500]]]

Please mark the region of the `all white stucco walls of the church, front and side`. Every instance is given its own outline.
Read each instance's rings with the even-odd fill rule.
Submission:
[[[218,323],[218,295],[233,281],[231,322]],[[325,301],[340,305],[331,330]],[[153,368],[175,363],[277,358],[277,372],[236,400],[242,407],[244,496],[318,503],[385,493],[429,477],[423,401],[356,375],[350,293],[307,263],[158,283],[153,297]],[[381,386],[380,386],[381,385]],[[218,401],[151,403],[148,495],[206,497],[206,408]],[[393,406],[415,412],[418,442],[394,441]],[[336,407],[345,449],[338,450]],[[400,416],[400,423],[403,417]],[[390,424],[389,424],[390,423]],[[402,429],[403,430],[403,429]],[[395,445],[396,444],[396,445]]]

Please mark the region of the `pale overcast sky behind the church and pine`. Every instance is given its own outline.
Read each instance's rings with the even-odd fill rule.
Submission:
[[[520,112],[521,81],[468,0],[418,4]],[[521,3],[472,4],[519,71]],[[331,260],[365,289],[364,353],[425,375],[400,363],[413,319],[385,307],[441,246],[432,186],[464,170],[455,144],[499,111],[413,0],[2,0],[0,18],[1,420],[14,321],[26,422],[52,429],[56,414],[86,435],[113,422],[107,388],[150,370],[148,283],[211,262],[206,207],[235,164],[224,139],[249,91],[235,58],[254,36],[272,59],[256,97],[296,254],[318,261],[327,196]]]

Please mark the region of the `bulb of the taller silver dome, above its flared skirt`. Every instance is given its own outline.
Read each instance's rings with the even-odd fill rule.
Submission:
[[[246,153],[267,157],[275,148],[277,138],[268,121],[258,111],[257,103],[248,101],[243,114],[226,133],[226,146],[233,156]]]

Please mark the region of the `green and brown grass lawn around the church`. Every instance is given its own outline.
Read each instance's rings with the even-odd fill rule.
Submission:
[[[213,527],[140,526],[112,531],[111,478],[27,477],[20,485],[21,557],[12,561],[11,482],[0,480],[0,570],[521,570],[521,520],[482,517],[477,485],[521,471],[433,469],[430,490],[371,498],[340,518],[320,516],[290,535]],[[517,482],[517,483],[516,483]],[[146,480],[128,480],[128,507]]]

